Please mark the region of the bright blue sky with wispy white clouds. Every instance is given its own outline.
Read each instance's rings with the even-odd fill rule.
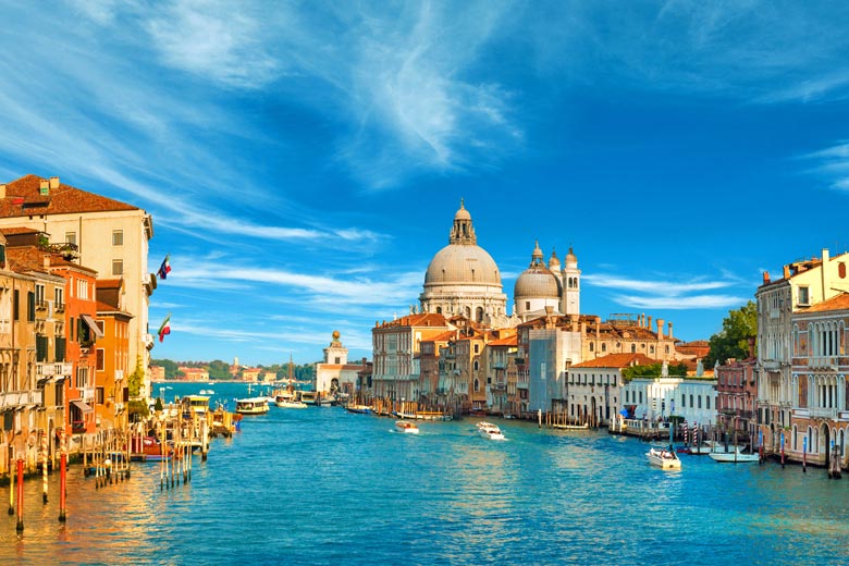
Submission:
[[[814,5],[815,4],[815,5]],[[510,297],[707,339],[849,247],[845,2],[0,2],[0,180],[153,216],[153,356],[321,358],[416,304],[460,198]],[[512,303],[510,303],[512,304]]]

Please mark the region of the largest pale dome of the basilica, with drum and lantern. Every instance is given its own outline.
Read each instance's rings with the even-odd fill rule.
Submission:
[[[419,303],[424,313],[463,316],[490,328],[509,325],[499,267],[478,246],[471,214],[463,201],[454,214],[448,245],[428,264]]]

